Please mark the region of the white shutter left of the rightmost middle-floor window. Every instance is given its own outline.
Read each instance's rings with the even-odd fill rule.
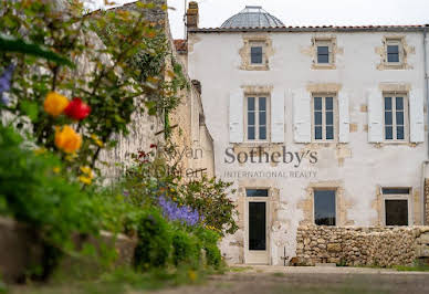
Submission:
[[[374,88],[368,95],[368,140],[370,143],[383,141],[383,95],[378,88]]]

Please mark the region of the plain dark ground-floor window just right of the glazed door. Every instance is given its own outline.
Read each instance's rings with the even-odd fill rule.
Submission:
[[[335,225],[335,190],[314,190],[314,223]]]

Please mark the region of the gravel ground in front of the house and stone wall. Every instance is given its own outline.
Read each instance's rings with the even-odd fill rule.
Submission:
[[[233,267],[205,285],[158,291],[158,294],[265,293],[429,293],[429,273],[363,267]]]

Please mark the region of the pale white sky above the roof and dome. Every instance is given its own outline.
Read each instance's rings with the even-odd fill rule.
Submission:
[[[104,0],[95,1],[101,7]],[[130,0],[109,0],[117,3]],[[185,1],[167,0],[171,34],[185,34]],[[199,28],[217,28],[245,6],[262,6],[285,25],[363,25],[429,23],[429,0],[197,0]]]

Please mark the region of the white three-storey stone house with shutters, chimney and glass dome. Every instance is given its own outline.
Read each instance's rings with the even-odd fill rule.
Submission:
[[[220,28],[187,13],[216,175],[233,181],[231,263],[283,264],[300,225],[426,219],[428,25],[285,27],[247,7]]]

